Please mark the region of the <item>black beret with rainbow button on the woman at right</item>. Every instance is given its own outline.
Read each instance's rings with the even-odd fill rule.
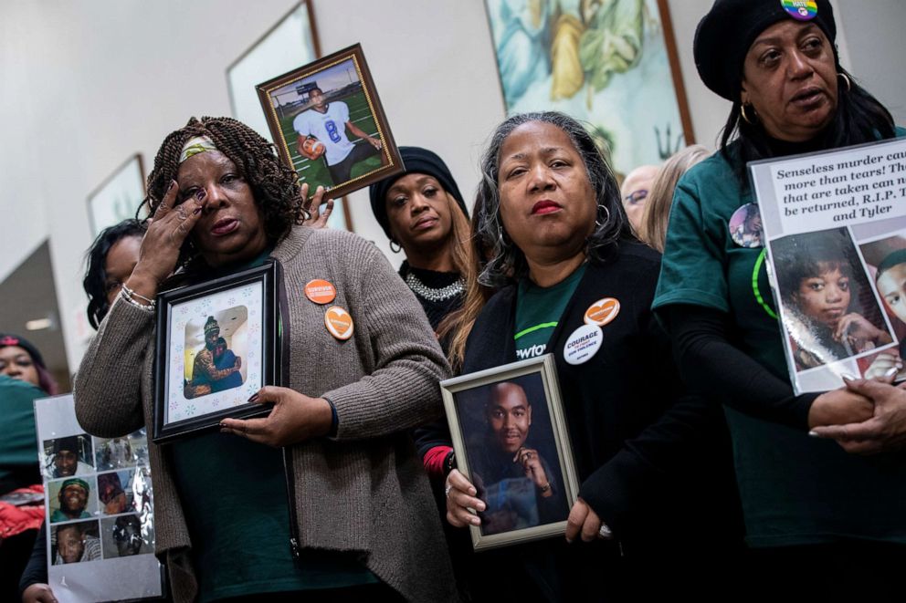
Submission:
[[[716,0],[699,22],[692,44],[701,81],[724,99],[738,101],[749,47],[768,27],[793,18],[820,27],[831,45],[837,39],[834,9],[828,0]]]

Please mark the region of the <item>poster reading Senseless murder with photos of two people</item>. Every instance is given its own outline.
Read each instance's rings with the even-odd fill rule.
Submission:
[[[906,378],[906,140],[749,170],[795,392]]]

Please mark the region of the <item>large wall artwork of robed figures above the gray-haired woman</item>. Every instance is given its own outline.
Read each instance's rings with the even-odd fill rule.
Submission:
[[[667,0],[486,0],[508,114],[586,122],[627,174],[692,144]]]

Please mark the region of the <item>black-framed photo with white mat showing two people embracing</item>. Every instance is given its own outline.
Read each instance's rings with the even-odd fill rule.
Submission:
[[[248,398],[280,379],[279,265],[157,296],[153,442],[265,414]]]

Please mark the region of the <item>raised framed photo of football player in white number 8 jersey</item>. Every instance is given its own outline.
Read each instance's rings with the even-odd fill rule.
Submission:
[[[313,192],[334,199],[402,172],[362,47],[258,84],[274,144]]]

